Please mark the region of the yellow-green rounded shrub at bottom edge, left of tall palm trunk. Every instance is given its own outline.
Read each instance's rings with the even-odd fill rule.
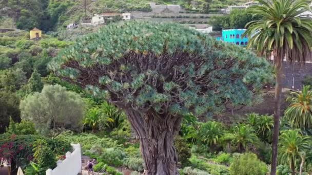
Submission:
[[[263,175],[266,174],[267,166],[261,162],[257,155],[245,153],[239,157],[235,157],[230,166],[230,175]]]

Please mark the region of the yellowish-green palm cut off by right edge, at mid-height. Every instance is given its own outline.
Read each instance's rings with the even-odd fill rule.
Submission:
[[[285,111],[285,117],[290,124],[299,128],[312,126],[312,91],[310,86],[303,86],[300,92],[291,92],[293,97],[287,98],[290,105]]]

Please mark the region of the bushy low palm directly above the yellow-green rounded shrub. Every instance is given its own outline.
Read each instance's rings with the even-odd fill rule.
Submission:
[[[237,145],[240,152],[248,150],[251,145],[258,145],[259,138],[255,130],[248,124],[239,124],[233,129],[232,142]]]

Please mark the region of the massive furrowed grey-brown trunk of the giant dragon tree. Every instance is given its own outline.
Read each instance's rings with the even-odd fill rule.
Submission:
[[[177,175],[178,156],[173,146],[179,132],[181,117],[153,112],[126,111],[129,121],[140,139],[144,160],[144,175]]]

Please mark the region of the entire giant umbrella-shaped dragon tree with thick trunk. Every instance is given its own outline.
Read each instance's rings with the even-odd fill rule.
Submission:
[[[130,21],[102,28],[63,50],[49,68],[122,108],[144,174],[177,174],[173,137],[184,115],[251,105],[271,71],[264,59],[175,24]]]

